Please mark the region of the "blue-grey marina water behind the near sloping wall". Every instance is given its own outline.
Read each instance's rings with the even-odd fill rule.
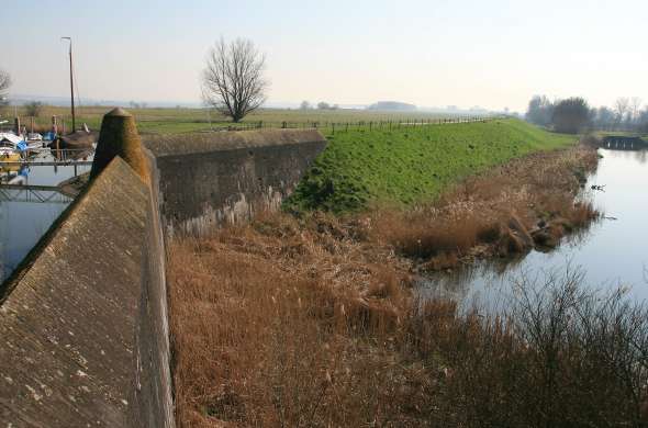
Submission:
[[[86,158],[91,160],[92,156]],[[30,160],[52,161],[54,157],[44,151]],[[77,166],[76,173],[88,172],[90,166]],[[75,177],[75,167],[31,167],[21,171],[26,184],[57,185]],[[56,191],[0,189],[0,282],[47,232],[52,223],[72,202],[72,199]]]

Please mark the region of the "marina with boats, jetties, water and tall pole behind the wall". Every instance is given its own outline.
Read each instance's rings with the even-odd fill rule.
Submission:
[[[71,38],[62,38],[69,42],[71,132],[57,115],[49,127],[36,126],[37,113],[0,122],[0,283],[74,201],[92,165],[98,134],[77,129]]]

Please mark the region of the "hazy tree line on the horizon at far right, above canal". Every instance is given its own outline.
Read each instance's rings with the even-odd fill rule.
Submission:
[[[536,95],[528,103],[526,120],[570,134],[588,129],[648,133],[648,106],[641,105],[637,97],[619,98],[612,108],[590,108],[580,97],[550,101]]]

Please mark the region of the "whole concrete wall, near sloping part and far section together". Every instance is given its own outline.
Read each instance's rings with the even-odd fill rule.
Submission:
[[[0,427],[175,427],[164,217],[200,232],[277,207],[325,146],[223,134],[149,140],[150,187],[114,158],[2,284]]]

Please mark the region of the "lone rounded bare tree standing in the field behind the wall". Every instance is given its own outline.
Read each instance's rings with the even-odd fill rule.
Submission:
[[[202,74],[205,103],[239,122],[266,101],[265,64],[265,56],[250,41],[225,43],[221,38],[210,49]]]

